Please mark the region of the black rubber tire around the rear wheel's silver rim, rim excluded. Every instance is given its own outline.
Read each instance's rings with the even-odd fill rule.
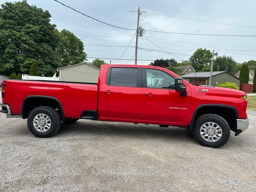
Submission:
[[[50,118],[51,125],[48,128],[48,130],[46,130],[45,132],[40,132],[36,130],[36,128],[33,125],[34,117],[37,114],[46,114]],[[60,115],[54,108],[49,106],[40,106],[40,107],[34,108],[30,112],[30,114],[28,115],[27,123],[28,123],[28,129],[32,134],[34,134],[37,137],[47,138],[47,137],[53,136],[58,132],[61,125],[61,120],[60,120]]]

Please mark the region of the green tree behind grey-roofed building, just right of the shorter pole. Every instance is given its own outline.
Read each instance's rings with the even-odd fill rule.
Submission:
[[[236,62],[234,61],[234,59],[232,58],[232,56],[217,56],[214,59],[214,63],[213,63],[213,71],[217,71],[218,70],[218,65],[219,65],[219,71],[226,71],[227,66],[228,66],[228,72],[230,72],[231,74],[235,74],[237,71],[236,68]]]

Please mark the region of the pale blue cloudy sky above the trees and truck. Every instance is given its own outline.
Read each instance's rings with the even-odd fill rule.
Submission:
[[[144,36],[155,45],[145,38],[139,39],[138,47],[150,49],[139,49],[139,60],[153,61],[157,58],[188,60],[190,55],[192,55],[197,48],[215,50],[218,52],[218,55],[230,55],[237,62],[244,62],[251,59],[256,60],[256,37],[199,36],[147,31],[156,30],[196,34],[256,35],[255,0],[59,1],[98,20],[129,29],[135,29],[137,24],[137,13],[131,11],[138,10],[138,6],[140,6],[141,11],[143,11],[140,16],[140,25],[146,30]],[[3,3],[4,1],[0,0],[0,2]],[[84,42],[84,49],[88,57],[119,58],[135,34],[134,30],[122,30],[92,20],[62,6],[54,0],[28,0],[28,3],[48,10],[52,15],[51,22],[57,25],[58,30],[65,28],[78,36],[78,38]],[[240,26],[215,24],[211,22]],[[133,38],[130,46],[135,46],[135,38]],[[171,52],[172,55],[162,50]],[[121,58],[132,59],[134,57],[134,52],[134,48],[127,48]],[[92,61],[93,59],[89,58],[88,60]],[[109,59],[104,60],[108,63],[110,62]],[[134,61],[115,61],[112,59],[112,64],[114,63],[133,64]],[[150,61],[138,61],[138,64],[149,63]]]

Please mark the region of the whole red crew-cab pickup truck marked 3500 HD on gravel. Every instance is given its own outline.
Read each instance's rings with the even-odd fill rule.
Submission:
[[[187,127],[198,143],[220,147],[248,128],[246,94],[195,86],[155,66],[102,65],[96,83],[4,80],[2,110],[28,118],[37,137],[78,119]]]

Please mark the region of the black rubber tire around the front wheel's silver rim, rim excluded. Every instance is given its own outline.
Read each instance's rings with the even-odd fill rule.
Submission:
[[[202,125],[204,125],[207,122],[214,122],[220,126],[220,128],[222,129],[222,136],[220,137],[219,140],[211,142],[211,141],[204,140],[204,138],[202,138],[200,134],[200,128]],[[198,117],[198,119],[194,123],[192,132],[193,132],[194,138],[200,145],[206,146],[206,147],[212,147],[212,148],[218,148],[223,146],[224,144],[226,144],[226,142],[228,142],[230,138],[230,127],[228,123],[224,118],[216,114],[204,114]]]

